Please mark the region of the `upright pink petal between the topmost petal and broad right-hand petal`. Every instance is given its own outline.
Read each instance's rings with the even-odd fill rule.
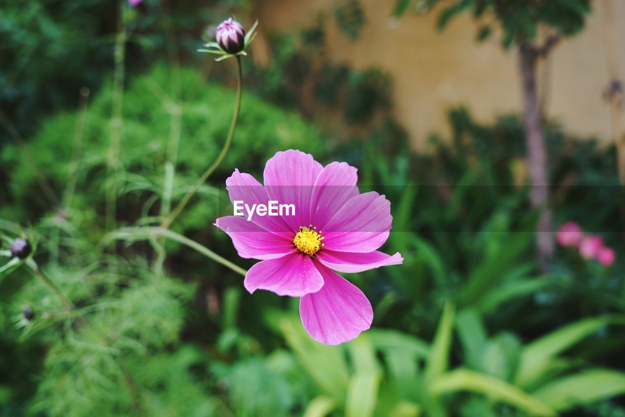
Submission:
[[[344,162],[328,164],[312,188],[311,223],[323,230],[347,200],[358,195],[357,169]]]

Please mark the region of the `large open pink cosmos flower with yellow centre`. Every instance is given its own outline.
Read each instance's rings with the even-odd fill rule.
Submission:
[[[259,259],[244,285],[300,297],[299,314],[313,339],[339,344],[371,327],[371,303],[334,271],[356,273],[401,264],[399,253],[377,251],[391,229],[391,203],[375,192],[359,193],[356,168],[322,166],[301,151],[276,153],[264,169],[264,186],[238,169],[226,179],[233,204],[294,204],[282,216],[226,216],[215,225],[242,258]],[[236,207],[236,206],[235,206]],[[334,270],[334,271],[333,271]]]

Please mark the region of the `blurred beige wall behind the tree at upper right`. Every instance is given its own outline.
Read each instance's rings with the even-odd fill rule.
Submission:
[[[611,140],[609,105],[602,99],[608,83],[601,2],[593,4],[586,29],[559,44],[549,61],[546,111],[566,130]],[[620,68],[625,69],[625,0],[612,0],[619,39]],[[474,41],[476,25],[468,15],[453,20],[443,33],[435,29],[437,13],[390,18],[394,0],[361,0],[367,24],[352,43],[327,24],[331,59],[356,68],[377,66],[394,77],[396,114],[411,134],[414,148],[423,148],[427,134],[447,133],[446,109],[466,104],[480,121],[521,109],[514,51],[505,52],[490,39]],[[263,26],[276,31],[302,28],[319,11],[333,16],[329,0],[259,1]],[[621,71],[622,73],[623,71]]]

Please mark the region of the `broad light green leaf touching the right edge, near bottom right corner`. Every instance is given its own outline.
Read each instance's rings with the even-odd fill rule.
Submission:
[[[578,405],[625,394],[625,373],[590,369],[557,379],[533,394],[556,411],[567,411]]]

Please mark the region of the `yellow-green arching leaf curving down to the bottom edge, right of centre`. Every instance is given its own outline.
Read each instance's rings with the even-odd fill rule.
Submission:
[[[532,416],[555,416],[556,411],[540,399],[494,376],[469,369],[457,369],[439,376],[430,387],[432,394],[471,391],[510,404]]]

